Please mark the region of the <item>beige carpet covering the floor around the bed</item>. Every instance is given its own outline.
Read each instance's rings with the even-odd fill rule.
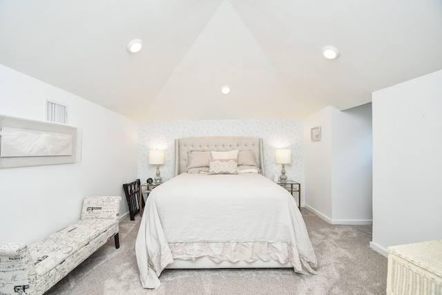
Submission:
[[[135,259],[140,218],[120,223],[113,239],[46,294],[385,294],[387,258],[369,247],[371,226],[329,225],[302,209],[318,274],[293,269],[166,269],[158,289],[143,289]]]

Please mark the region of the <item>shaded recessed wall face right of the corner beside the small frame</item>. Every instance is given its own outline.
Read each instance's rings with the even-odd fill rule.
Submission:
[[[371,223],[372,104],[335,109],[332,133],[333,219]]]

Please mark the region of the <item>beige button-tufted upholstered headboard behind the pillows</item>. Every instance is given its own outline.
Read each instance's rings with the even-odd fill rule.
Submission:
[[[265,175],[262,138],[259,137],[188,137],[175,140],[175,176],[186,171],[189,151],[252,151]]]

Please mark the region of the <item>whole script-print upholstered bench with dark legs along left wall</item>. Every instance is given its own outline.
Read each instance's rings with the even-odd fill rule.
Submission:
[[[119,248],[121,199],[84,198],[79,221],[29,247],[0,242],[0,294],[44,294],[113,236]]]

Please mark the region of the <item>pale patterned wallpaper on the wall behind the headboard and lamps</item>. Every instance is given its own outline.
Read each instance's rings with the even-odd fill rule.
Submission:
[[[249,136],[264,141],[266,177],[279,176],[281,165],[275,163],[275,149],[291,149],[291,164],[285,166],[289,180],[304,183],[303,120],[197,120],[153,122],[138,126],[138,177],[141,182],[154,178],[156,166],[148,164],[149,149],[164,149],[165,163],[160,166],[163,181],[175,173],[175,139],[200,136]],[[304,193],[302,193],[302,196]]]

